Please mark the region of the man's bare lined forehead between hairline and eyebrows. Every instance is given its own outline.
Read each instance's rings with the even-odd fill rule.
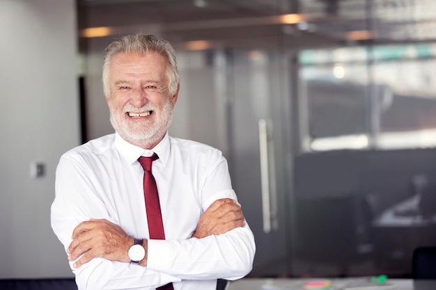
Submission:
[[[166,77],[167,65],[166,58],[155,51],[146,54],[123,52],[112,58],[110,74],[112,79],[119,76],[146,76],[162,80]]]

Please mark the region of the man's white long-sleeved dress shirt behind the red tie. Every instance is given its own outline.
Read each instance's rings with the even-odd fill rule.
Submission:
[[[247,224],[226,234],[192,238],[212,202],[236,200],[221,152],[168,134],[153,152],[159,156],[152,172],[166,240],[148,241],[146,267],[95,258],[74,268],[71,261],[79,290],[155,289],[169,282],[175,290],[212,290],[217,278],[235,280],[251,271],[256,247]],[[143,169],[137,159],[153,152],[111,134],[61,156],[51,218],[65,250],[73,229],[90,218],[105,218],[131,236],[148,239]]]

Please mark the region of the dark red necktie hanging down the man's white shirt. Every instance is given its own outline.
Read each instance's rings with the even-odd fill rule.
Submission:
[[[146,211],[148,220],[148,233],[150,239],[164,240],[164,224],[162,223],[162,214],[160,212],[159,195],[155,177],[151,173],[151,163],[158,159],[159,156],[153,154],[151,157],[139,157],[138,161],[144,170],[143,172],[143,193],[146,199]],[[157,288],[159,290],[173,290],[173,284]]]

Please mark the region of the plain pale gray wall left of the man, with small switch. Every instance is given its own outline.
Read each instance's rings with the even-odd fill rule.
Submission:
[[[49,209],[59,157],[79,145],[76,53],[74,0],[0,0],[0,278],[72,275]]]

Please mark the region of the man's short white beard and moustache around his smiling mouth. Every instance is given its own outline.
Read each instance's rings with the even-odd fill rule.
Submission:
[[[173,107],[168,97],[159,115],[156,116],[155,122],[149,125],[146,122],[129,122],[125,117],[126,112],[139,113],[145,111],[153,111],[153,114],[157,112],[153,104],[146,104],[141,108],[126,104],[123,111],[117,111],[114,106],[109,107],[110,120],[115,131],[127,142],[145,149],[151,149],[164,138],[173,118]]]

